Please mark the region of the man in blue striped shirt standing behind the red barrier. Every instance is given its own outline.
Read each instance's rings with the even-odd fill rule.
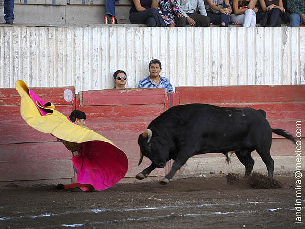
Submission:
[[[161,72],[161,62],[153,59],[149,62],[150,75],[140,80],[138,88],[165,88],[166,92],[174,92],[168,78],[159,75]]]

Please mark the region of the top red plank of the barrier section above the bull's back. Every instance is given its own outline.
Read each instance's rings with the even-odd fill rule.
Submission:
[[[305,85],[176,87],[179,104],[305,102]]]

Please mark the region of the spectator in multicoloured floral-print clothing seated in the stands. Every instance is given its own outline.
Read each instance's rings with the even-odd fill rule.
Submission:
[[[169,27],[175,27],[175,16],[184,17],[176,0],[159,0],[158,10]]]

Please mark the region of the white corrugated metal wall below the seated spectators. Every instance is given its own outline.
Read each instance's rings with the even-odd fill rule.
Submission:
[[[137,87],[154,58],[173,87],[305,84],[305,28],[0,27],[2,88]]]

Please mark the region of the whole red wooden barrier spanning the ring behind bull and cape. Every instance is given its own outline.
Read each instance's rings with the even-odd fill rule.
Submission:
[[[73,87],[33,88],[33,91],[43,100],[52,101],[55,109],[66,116],[75,108],[86,112],[86,125],[126,153],[129,159],[126,177],[134,177],[150,164],[145,158],[141,166],[137,166],[139,134],[160,113],[174,105],[209,103],[263,109],[272,128],[282,128],[293,135],[296,134],[295,122],[305,123],[305,85],[177,87],[176,93],[169,95],[164,89],[109,89],[80,92],[71,102],[63,97],[65,89],[74,94]],[[72,181],[71,152],[50,134],[25,123],[20,116],[20,96],[13,88],[0,89],[0,117],[0,185]],[[273,137],[272,155],[294,155],[290,141],[277,135]],[[151,175],[164,176],[169,169],[170,163]]]

